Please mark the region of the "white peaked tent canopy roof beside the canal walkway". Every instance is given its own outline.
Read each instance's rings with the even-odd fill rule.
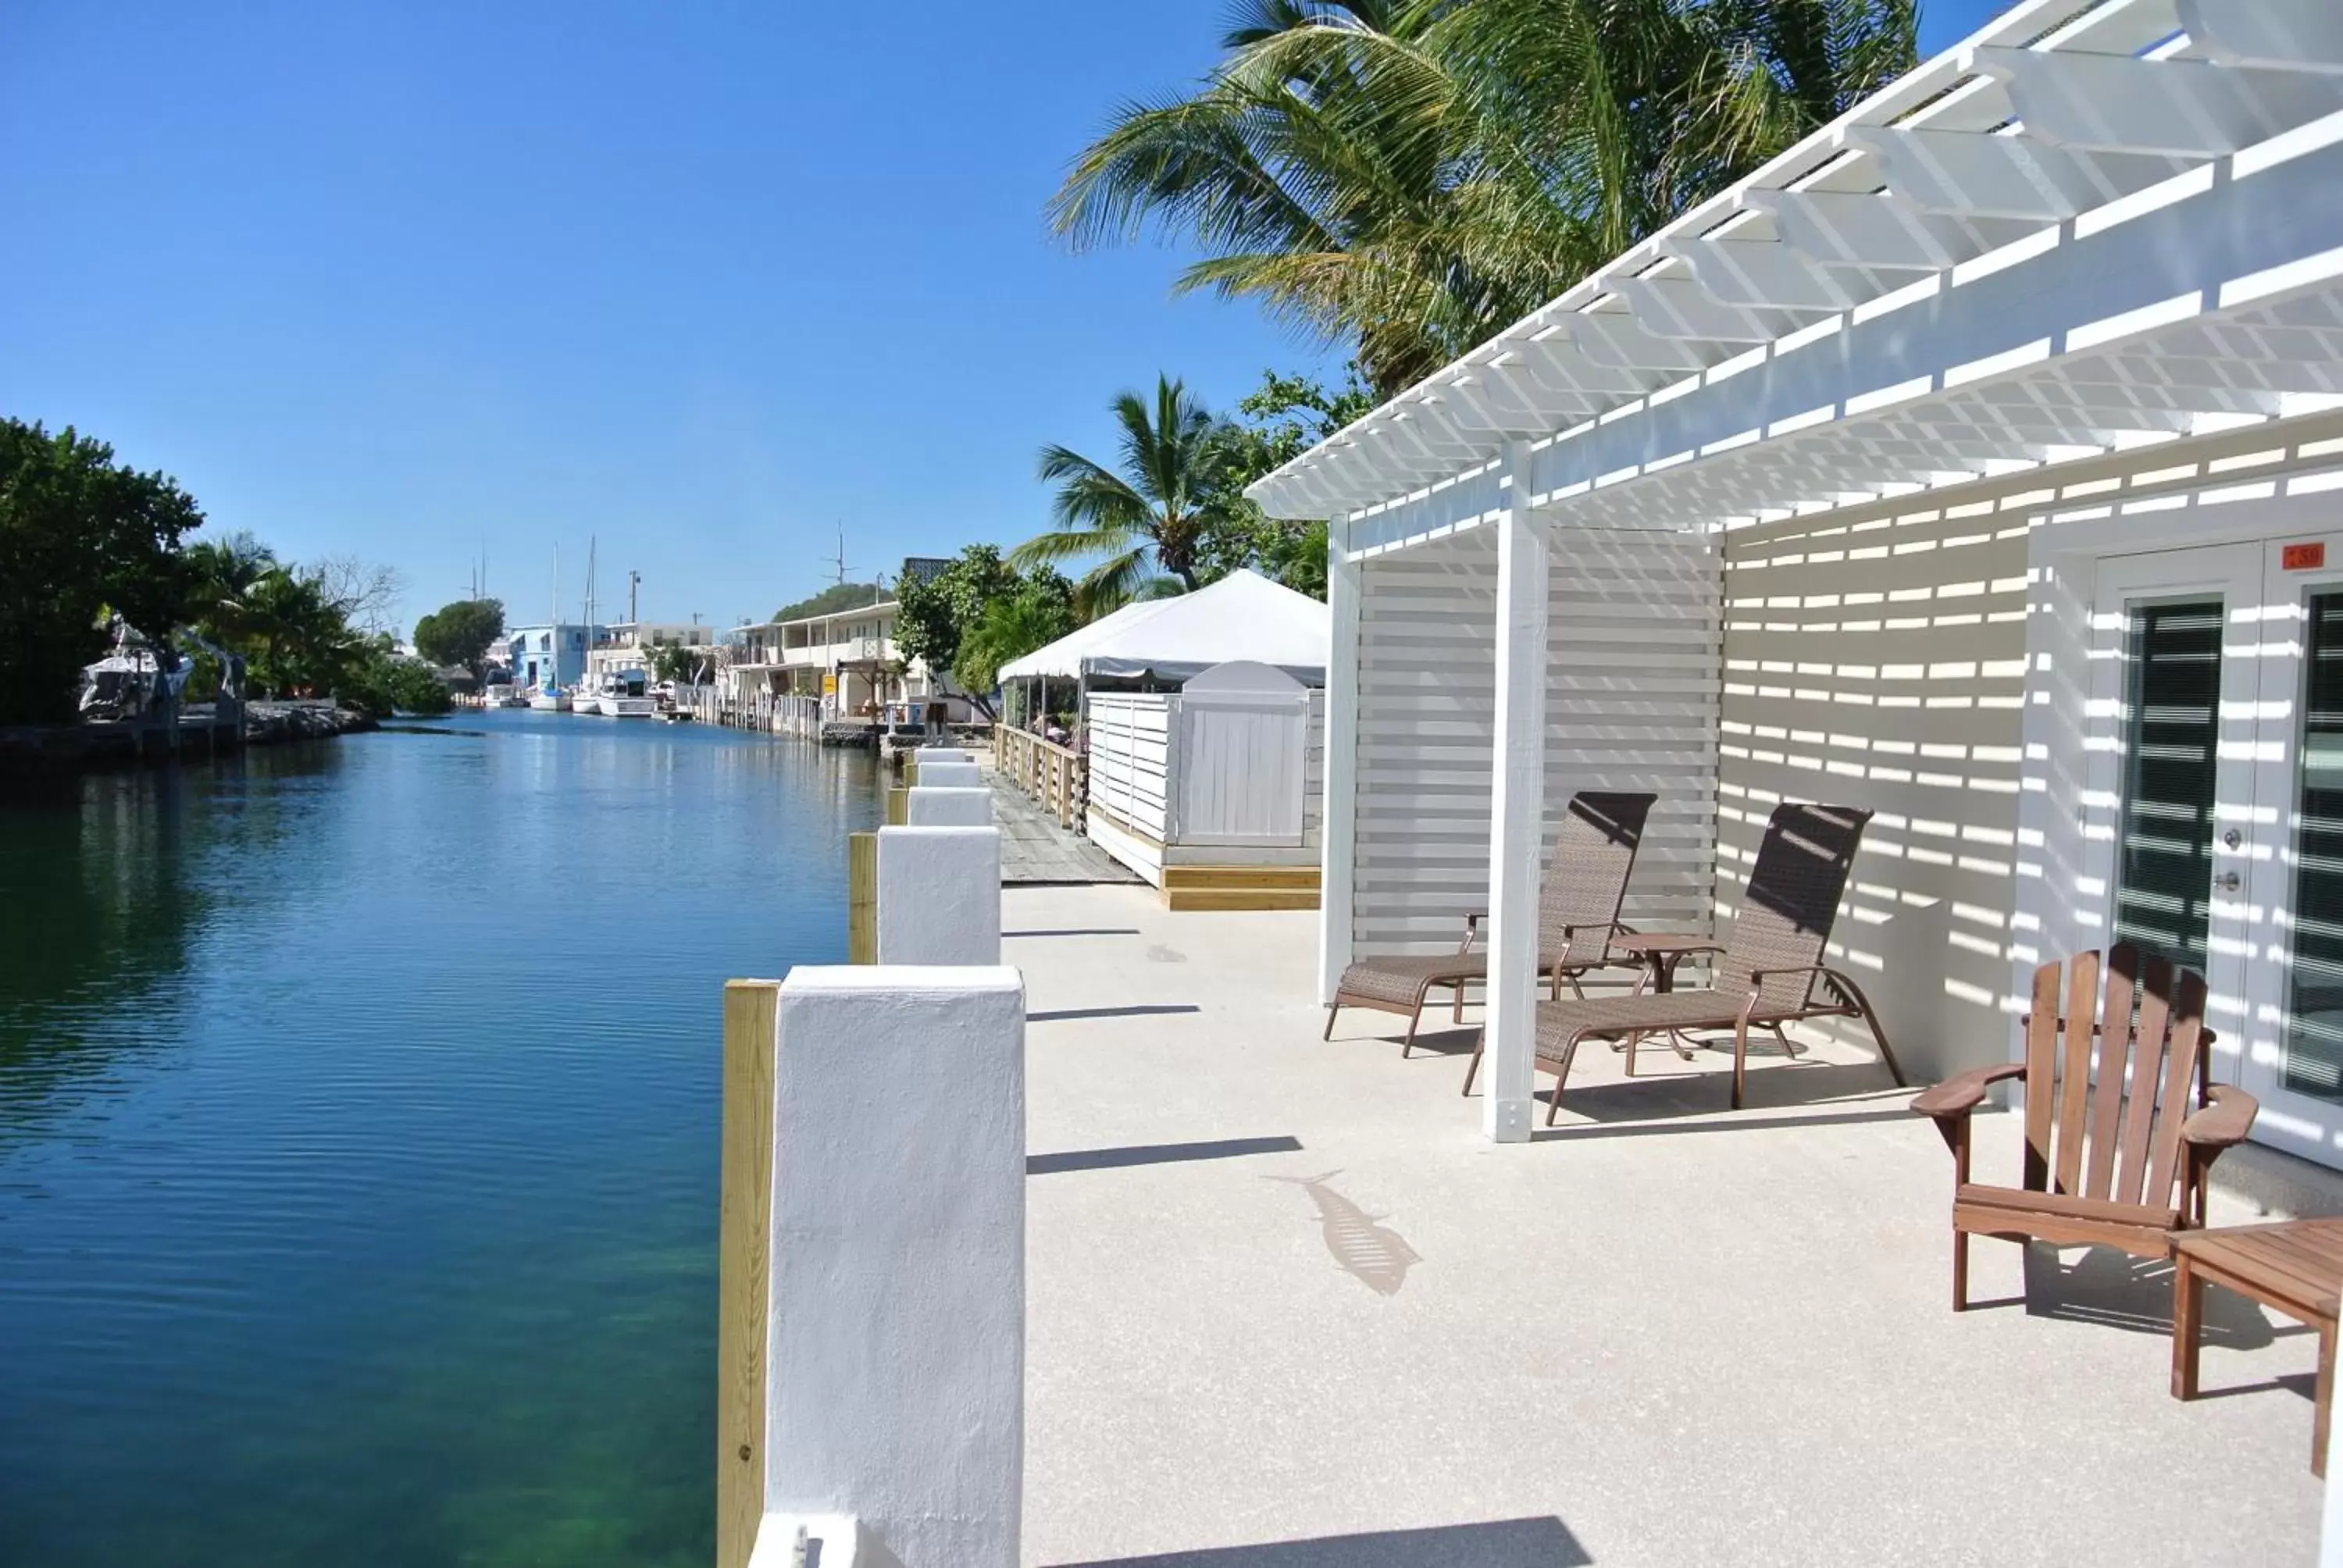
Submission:
[[[1000,666],[1000,680],[1148,675],[1188,680],[1249,659],[1310,687],[1326,684],[1333,623],[1326,605],[1258,572],[1230,572],[1209,588],[1143,600]]]

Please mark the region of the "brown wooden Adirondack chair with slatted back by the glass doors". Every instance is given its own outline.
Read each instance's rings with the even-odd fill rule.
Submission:
[[[2123,942],[2106,954],[2102,1005],[2099,954],[2076,954],[2064,968],[2064,1008],[2059,966],[2034,970],[2024,1062],[1966,1071],[1912,1102],[1952,1148],[1954,1313],[1968,1305],[1970,1235],[2106,1242],[2163,1259],[2167,1233],[2205,1223],[2207,1172],[2224,1148],[2245,1141],[2261,1109],[2245,1090],[2209,1078],[2205,975]],[[1968,1179],[1968,1116],[2003,1078],[2027,1080],[2022,1186],[1982,1186]]]

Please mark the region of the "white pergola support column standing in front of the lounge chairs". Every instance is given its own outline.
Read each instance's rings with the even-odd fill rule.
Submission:
[[[1488,818],[1488,1041],[1481,1132],[1530,1139],[1537,1088],[1537,879],[1546,818],[1546,527],[1530,516],[1530,448],[1504,448],[1497,520],[1497,734]]]

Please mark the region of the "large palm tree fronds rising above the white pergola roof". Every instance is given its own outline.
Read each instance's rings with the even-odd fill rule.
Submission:
[[[1350,340],[1380,396],[1910,68],[1914,0],[1246,0],[1125,103],[1052,220]]]

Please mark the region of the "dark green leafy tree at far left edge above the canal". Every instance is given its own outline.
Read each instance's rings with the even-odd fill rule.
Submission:
[[[166,635],[187,600],[180,537],[204,523],[162,473],[66,427],[0,420],[0,724],[70,720],[119,614]]]

